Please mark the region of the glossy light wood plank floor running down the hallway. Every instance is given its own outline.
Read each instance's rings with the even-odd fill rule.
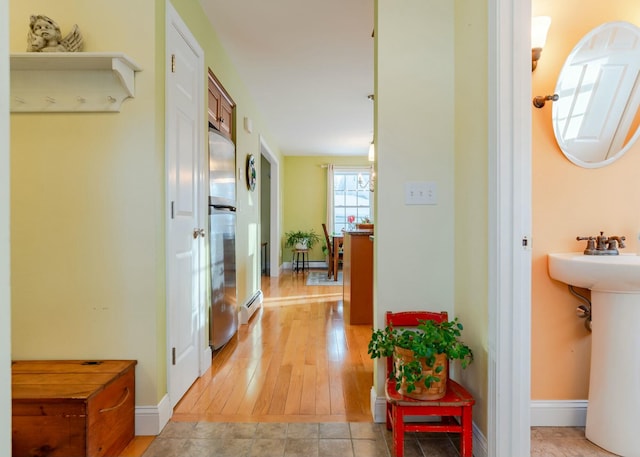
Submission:
[[[213,356],[174,421],[371,422],[370,325],[346,325],[342,286],[263,277],[263,309]]]

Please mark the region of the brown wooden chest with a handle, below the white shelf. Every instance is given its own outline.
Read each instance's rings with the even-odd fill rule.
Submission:
[[[120,455],[134,435],[135,365],[12,362],[13,457]]]

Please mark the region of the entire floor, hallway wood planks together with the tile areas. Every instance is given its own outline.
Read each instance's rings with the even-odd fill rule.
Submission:
[[[346,326],[341,286],[262,278],[263,309],[214,354],[158,437],[121,457],[389,457],[372,422],[369,326]],[[532,457],[612,456],[580,427],[534,427]],[[405,456],[457,457],[456,434],[409,433]],[[476,455],[478,455],[476,453]]]

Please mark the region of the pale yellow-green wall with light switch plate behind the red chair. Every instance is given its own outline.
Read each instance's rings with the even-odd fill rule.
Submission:
[[[487,433],[487,4],[379,0],[376,22],[376,314],[459,316],[476,355],[457,373]],[[438,204],[404,203],[435,181]],[[381,394],[384,374],[377,364]]]

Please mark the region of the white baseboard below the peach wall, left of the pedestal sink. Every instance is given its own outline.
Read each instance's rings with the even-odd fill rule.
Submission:
[[[532,400],[531,425],[535,427],[584,427],[588,400]]]

